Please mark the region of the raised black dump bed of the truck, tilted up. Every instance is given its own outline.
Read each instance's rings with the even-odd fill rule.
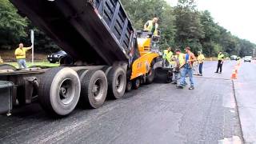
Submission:
[[[134,29],[118,0],[10,1],[76,61],[130,62],[136,49]]]

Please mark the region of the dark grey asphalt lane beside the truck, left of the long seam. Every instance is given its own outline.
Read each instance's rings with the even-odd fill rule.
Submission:
[[[66,118],[50,118],[38,104],[16,109],[0,115],[0,143],[241,143],[230,80],[235,64],[225,62],[222,74],[214,74],[217,63],[206,62],[195,90],[154,83],[97,110],[78,107]]]

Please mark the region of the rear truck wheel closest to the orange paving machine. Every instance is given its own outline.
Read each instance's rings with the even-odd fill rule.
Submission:
[[[126,92],[126,71],[121,67],[112,67],[107,74],[108,94],[111,98],[119,99]]]

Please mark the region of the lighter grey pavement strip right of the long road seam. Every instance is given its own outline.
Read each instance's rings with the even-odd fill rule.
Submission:
[[[256,62],[243,62],[234,80],[245,143],[256,143]]]

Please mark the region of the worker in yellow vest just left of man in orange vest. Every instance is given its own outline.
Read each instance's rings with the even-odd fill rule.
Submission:
[[[172,84],[176,85],[178,81],[178,74],[181,73],[181,66],[183,66],[185,63],[185,56],[181,50],[175,50],[174,61],[177,65],[174,69],[174,81],[172,82]]]

